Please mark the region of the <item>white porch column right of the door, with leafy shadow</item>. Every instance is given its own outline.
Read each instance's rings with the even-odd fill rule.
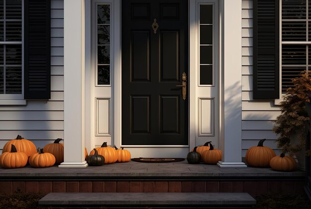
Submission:
[[[220,167],[247,167],[242,158],[242,1],[223,0],[222,129]]]

